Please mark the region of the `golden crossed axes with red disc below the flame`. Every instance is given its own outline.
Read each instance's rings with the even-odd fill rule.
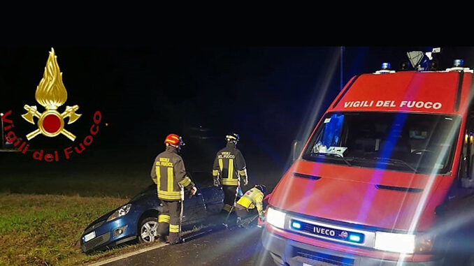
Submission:
[[[76,114],[79,105],[66,106],[66,110],[61,114],[56,110],[47,109],[45,112],[38,112],[36,105],[24,105],[24,110],[28,112],[22,114],[22,117],[31,124],[35,124],[34,117],[38,118],[38,129],[29,133],[27,139],[31,140],[39,134],[48,137],[55,137],[59,134],[65,135],[69,140],[76,140],[76,135],[64,129],[64,119],[69,117],[68,124],[74,123],[82,114]]]

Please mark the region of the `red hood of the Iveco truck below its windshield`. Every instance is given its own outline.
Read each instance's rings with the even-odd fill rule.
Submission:
[[[442,178],[450,177],[297,161],[269,203],[289,212],[346,223],[427,230],[447,193],[436,191]]]

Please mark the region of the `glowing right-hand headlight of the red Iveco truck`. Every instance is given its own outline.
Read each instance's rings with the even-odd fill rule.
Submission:
[[[375,249],[398,253],[415,251],[415,235],[375,232]]]

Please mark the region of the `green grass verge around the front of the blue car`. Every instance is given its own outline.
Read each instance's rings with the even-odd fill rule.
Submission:
[[[131,244],[85,255],[80,235],[127,198],[0,193],[0,265],[87,265],[156,243]],[[197,226],[185,232],[201,230]]]

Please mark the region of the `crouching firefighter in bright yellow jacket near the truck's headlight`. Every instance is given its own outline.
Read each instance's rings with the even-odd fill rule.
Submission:
[[[261,221],[265,220],[264,216],[264,196],[266,193],[265,185],[255,185],[252,189],[245,192],[243,197],[236,203],[236,214],[238,221],[242,221],[251,216],[260,217]]]

